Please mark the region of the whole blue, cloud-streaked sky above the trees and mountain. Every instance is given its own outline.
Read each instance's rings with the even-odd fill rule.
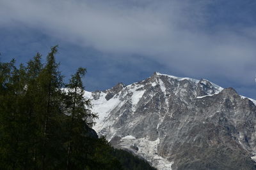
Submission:
[[[255,9],[255,0],[1,0],[0,61],[59,45],[61,72],[86,67],[89,91],[157,71],[256,99]]]

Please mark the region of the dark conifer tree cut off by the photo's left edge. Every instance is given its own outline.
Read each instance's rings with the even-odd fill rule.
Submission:
[[[12,75],[16,67],[15,60],[0,64],[0,166],[6,169],[15,167],[15,162],[12,158],[13,153],[13,94]],[[15,136],[16,137],[16,136]],[[15,149],[14,149],[15,150]]]

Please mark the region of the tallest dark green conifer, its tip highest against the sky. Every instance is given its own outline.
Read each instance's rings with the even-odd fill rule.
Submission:
[[[41,96],[36,102],[37,112],[40,115],[38,124],[40,125],[40,164],[42,169],[47,169],[60,160],[61,152],[61,117],[63,77],[58,71],[59,64],[56,63],[55,54],[58,46],[53,46],[47,55],[47,62],[38,76]]]

